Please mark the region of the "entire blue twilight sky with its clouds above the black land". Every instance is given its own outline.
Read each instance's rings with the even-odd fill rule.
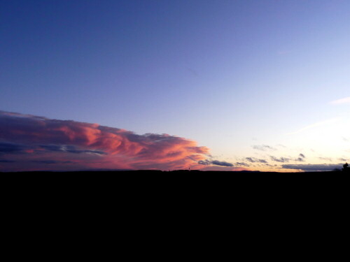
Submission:
[[[341,168],[349,13],[345,0],[2,0],[0,170]]]

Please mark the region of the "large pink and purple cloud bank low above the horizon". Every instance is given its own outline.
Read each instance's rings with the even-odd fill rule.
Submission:
[[[168,134],[0,111],[0,170],[201,168],[209,149]],[[221,161],[213,165],[223,166]]]

